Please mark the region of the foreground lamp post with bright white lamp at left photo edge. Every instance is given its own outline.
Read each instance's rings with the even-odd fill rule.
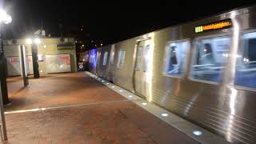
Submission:
[[[6,14],[4,10],[0,10],[0,22],[9,24],[12,21],[12,18],[9,14]],[[7,140],[6,133],[6,118],[3,111],[3,104],[9,103],[7,82],[6,82],[6,59],[4,58],[3,53],[3,43],[2,43],[2,26],[0,26],[0,120],[1,120],[1,138]]]

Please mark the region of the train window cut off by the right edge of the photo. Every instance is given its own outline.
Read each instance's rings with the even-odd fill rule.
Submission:
[[[241,57],[237,58],[234,84],[256,88],[256,33],[243,34]]]

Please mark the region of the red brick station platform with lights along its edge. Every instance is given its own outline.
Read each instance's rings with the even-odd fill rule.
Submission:
[[[26,88],[20,77],[7,83],[8,141],[2,143],[227,143],[88,72],[30,78]]]

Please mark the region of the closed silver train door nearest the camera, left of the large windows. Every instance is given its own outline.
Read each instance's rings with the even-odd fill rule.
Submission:
[[[150,40],[138,42],[137,56],[134,70],[134,89],[137,94],[146,97],[149,87],[147,77],[149,75]]]

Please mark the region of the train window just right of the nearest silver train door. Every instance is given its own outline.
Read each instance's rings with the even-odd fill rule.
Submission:
[[[167,75],[182,76],[186,63],[186,51],[190,42],[171,42],[166,48],[166,62],[164,73]]]

